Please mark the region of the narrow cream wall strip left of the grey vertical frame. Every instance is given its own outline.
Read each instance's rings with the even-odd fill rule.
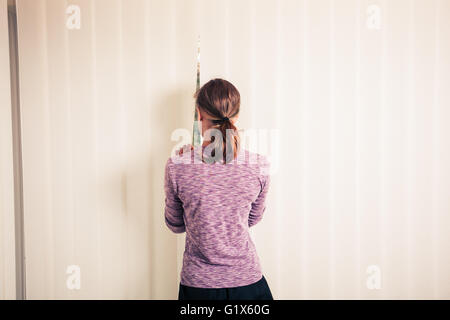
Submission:
[[[0,300],[16,297],[7,0],[0,0]]]

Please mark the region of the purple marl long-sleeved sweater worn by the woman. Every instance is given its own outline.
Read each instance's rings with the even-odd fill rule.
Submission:
[[[186,232],[181,284],[231,288],[262,277],[249,228],[265,211],[267,158],[241,149],[232,163],[201,161],[200,147],[172,156],[165,168],[165,222]]]

